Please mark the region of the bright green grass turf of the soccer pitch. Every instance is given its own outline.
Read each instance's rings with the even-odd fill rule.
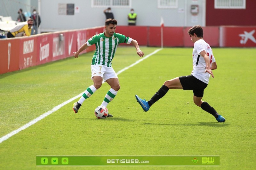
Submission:
[[[158,48],[142,47],[145,55]],[[0,143],[0,169],[254,169],[255,48],[213,48],[213,71],[203,100],[225,123],[193,103],[192,91],[169,90],[148,112],[134,95],[150,97],[164,81],[188,75],[192,48],[164,48],[119,74],[121,89],[109,103],[113,118],[96,119],[94,109],[107,83],[78,114],[73,102]],[[18,129],[92,85],[93,53],[0,75],[0,135]],[[139,60],[133,47],[118,47],[116,72]],[[36,155],[220,155],[219,167],[36,167]]]

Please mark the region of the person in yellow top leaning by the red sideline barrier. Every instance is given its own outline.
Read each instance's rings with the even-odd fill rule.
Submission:
[[[11,30],[9,30],[7,33],[7,38],[29,36],[31,34],[32,25],[33,19],[28,18],[28,21],[21,22],[15,25],[15,27],[13,27]]]

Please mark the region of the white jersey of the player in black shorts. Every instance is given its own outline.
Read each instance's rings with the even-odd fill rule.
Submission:
[[[200,55],[202,51],[206,51],[211,64],[212,62],[215,62],[215,58],[213,56],[212,48],[210,47],[210,45],[207,44],[204,39],[197,40],[194,44],[193,49],[193,70],[191,72],[191,75],[208,84],[211,74],[207,72],[204,73],[206,69],[206,63],[204,61],[204,57]]]

